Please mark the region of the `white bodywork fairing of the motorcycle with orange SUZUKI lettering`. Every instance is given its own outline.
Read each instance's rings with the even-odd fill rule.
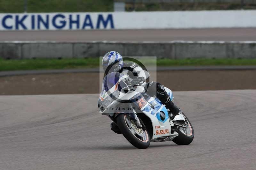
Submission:
[[[127,78],[126,75],[120,74],[119,79],[116,79],[113,86],[107,89],[107,92],[102,90],[98,101],[100,113],[108,115],[114,122],[116,115],[119,113],[130,115],[134,119],[137,116],[140,118],[140,114],[144,114],[151,121],[152,129],[148,130],[151,131],[151,141],[164,142],[177,137],[179,134],[176,131],[172,131],[173,122],[169,118],[165,105],[159,99],[148,96],[142,86],[137,86],[135,88],[136,91],[128,86],[120,88],[119,84],[121,82],[124,83],[125,78]],[[172,91],[166,87],[165,90],[170,95],[171,100],[173,100]],[[115,100],[112,99],[113,96],[115,96]],[[125,104],[128,107],[118,107],[124,101],[132,102]],[[185,120],[185,118],[180,114],[177,116],[177,120]]]

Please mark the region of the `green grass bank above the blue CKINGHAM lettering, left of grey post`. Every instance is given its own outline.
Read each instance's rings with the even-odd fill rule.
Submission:
[[[0,13],[24,12],[25,0],[0,0]],[[27,12],[113,11],[113,0],[27,0]]]

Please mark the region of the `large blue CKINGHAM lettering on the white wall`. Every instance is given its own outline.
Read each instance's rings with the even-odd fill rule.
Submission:
[[[113,14],[25,13],[1,15],[3,30],[114,29]],[[68,17],[68,18],[66,18]],[[69,22],[69,23],[67,23]]]

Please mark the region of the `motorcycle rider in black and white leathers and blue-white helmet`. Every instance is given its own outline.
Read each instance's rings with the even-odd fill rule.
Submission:
[[[116,51],[110,51],[104,55],[102,59],[102,67],[105,72],[104,77],[111,72],[119,72],[127,75],[130,73],[129,71],[131,71],[132,74],[136,76],[131,81],[131,84],[133,85],[140,84],[140,82],[145,81],[149,77],[148,72],[143,70],[138,64],[133,62],[124,63],[122,55],[120,55]],[[170,96],[165,91],[163,85],[161,85],[158,82],[151,81],[145,84],[145,90],[146,90],[146,93],[150,96],[153,96],[156,94],[156,97],[162,103],[164,103],[168,109],[170,109],[170,111],[173,114],[173,117],[175,115],[178,115],[180,109],[179,107],[175,106],[175,104],[171,101]],[[115,129],[115,127],[112,127],[112,125],[115,126],[115,124],[113,122],[111,123],[111,129],[113,130]]]

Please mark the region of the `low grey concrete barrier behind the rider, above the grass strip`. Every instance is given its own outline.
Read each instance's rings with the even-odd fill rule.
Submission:
[[[256,41],[170,41],[170,42],[0,42],[0,57],[86,58],[118,51],[123,56],[157,56],[159,58],[256,58]]]

